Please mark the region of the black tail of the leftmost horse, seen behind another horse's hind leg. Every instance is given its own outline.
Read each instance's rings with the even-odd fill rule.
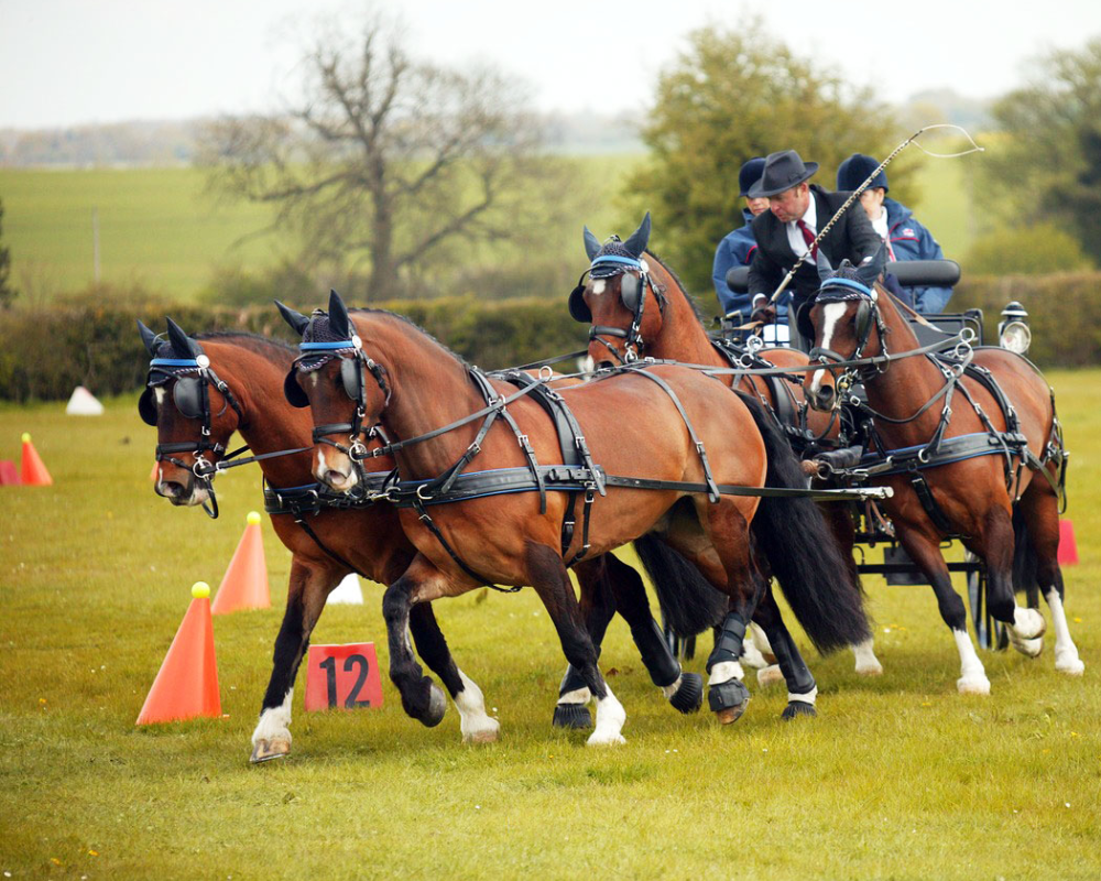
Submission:
[[[722,623],[729,597],[691,563],[653,535],[635,539],[634,550],[654,585],[662,620],[676,635],[688,639]]]

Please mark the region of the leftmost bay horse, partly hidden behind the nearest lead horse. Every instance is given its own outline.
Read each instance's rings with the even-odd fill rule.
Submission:
[[[233,331],[193,338],[171,318],[167,328],[167,340],[163,340],[139,322],[151,358],[179,362],[154,365],[152,384],[139,403],[142,417],[157,427],[160,461],[154,491],[176,505],[211,502],[210,481],[196,477],[197,457],[201,456],[209,467],[217,465],[231,436],[239,432],[253,454],[265,457],[259,460],[264,480],[269,488],[282,490],[272,498],[292,500],[286,510],[270,512],[272,526],[293,558],[272,674],[252,735],[251,761],[282,758],[291,750],[291,708],[298,666],[329,592],[352,572],[392,584],[416,551],[389,504],[310,504],[309,499],[316,499],[310,474],[312,423],[309,414],[291,406],[283,394],[283,381],[296,355],[293,349],[277,340]],[[200,357],[210,371],[209,380],[200,373]],[[205,406],[203,395],[207,396]],[[295,449],[299,452],[269,457]],[[379,474],[388,474],[394,463],[380,457],[373,467]],[[299,504],[297,512],[292,510],[295,504]],[[628,608],[637,595],[645,597],[645,589],[639,575],[613,555],[582,562],[577,575],[586,624],[599,645],[617,606]],[[663,685],[677,679],[679,665],[648,617],[648,609],[645,620],[641,614],[633,616],[630,623],[652,676]],[[456,666],[430,605],[413,611],[410,630],[425,662],[455,701],[464,741],[495,740],[499,722],[486,713],[478,685]],[[694,711],[699,707],[702,686],[697,674],[685,674],[684,678],[685,688],[666,696],[682,713]],[[423,720],[438,724],[444,706],[437,703]],[[575,711],[564,713],[562,706],[556,707],[557,724],[585,727],[581,714],[587,717],[588,710],[584,705],[564,706]]]

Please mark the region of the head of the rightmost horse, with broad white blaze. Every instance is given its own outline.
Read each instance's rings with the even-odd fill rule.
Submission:
[[[799,311],[799,333],[815,341],[811,362],[824,369],[806,374],[804,390],[815,410],[832,410],[838,403],[837,382],[844,368],[839,362],[880,355],[883,351],[883,322],[879,301],[885,292],[876,280],[883,272],[884,249],[859,267],[842,260],[835,270],[818,252],[817,296]],[[875,330],[876,333],[872,333]]]

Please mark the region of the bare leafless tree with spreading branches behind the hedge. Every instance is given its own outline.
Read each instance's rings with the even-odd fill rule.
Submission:
[[[369,268],[371,300],[565,209],[550,194],[568,191],[567,172],[541,154],[514,79],[418,62],[379,18],[355,36],[320,29],[302,68],[302,100],[215,123],[203,161],[216,191],[275,206],[308,264]]]

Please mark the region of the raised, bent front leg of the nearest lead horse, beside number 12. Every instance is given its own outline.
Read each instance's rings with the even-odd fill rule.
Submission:
[[[390,681],[402,696],[402,708],[427,728],[439,725],[447,710],[447,698],[416,662],[407,630],[411,609],[419,602],[417,595],[432,591],[445,578],[425,557],[417,555],[382,597],[382,617],[386,622],[390,646]],[[432,591],[437,595],[438,591]],[[423,623],[423,620],[422,620]]]

